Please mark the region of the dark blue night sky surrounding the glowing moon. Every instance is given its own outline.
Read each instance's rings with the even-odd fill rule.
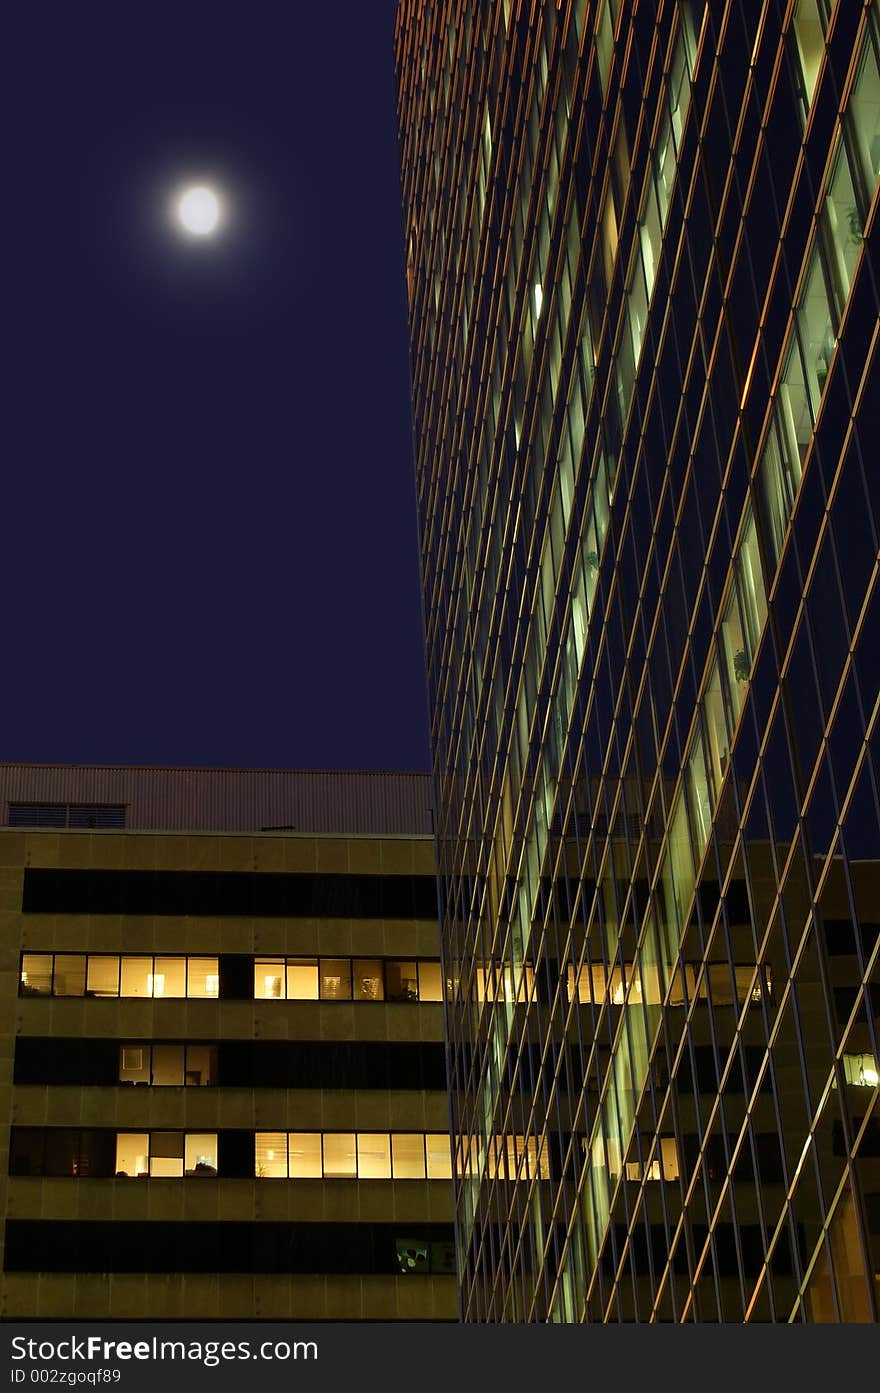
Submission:
[[[427,768],[394,11],[7,14],[0,759]]]

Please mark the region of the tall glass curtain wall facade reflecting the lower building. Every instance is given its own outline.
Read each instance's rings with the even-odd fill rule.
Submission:
[[[400,4],[465,1319],[877,1318],[877,20]]]

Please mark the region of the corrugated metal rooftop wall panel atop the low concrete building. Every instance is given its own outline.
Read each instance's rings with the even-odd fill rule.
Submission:
[[[125,804],[128,827],[430,836],[430,775],[139,765],[0,765],[10,802]]]

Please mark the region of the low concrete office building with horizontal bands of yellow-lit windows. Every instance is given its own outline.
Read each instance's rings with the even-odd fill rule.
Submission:
[[[6,1318],[454,1319],[430,780],[0,766]]]

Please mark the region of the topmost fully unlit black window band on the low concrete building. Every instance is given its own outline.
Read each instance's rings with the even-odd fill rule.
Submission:
[[[436,919],[426,875],[259,875],[245,871],[25,869],[25,914]]]

